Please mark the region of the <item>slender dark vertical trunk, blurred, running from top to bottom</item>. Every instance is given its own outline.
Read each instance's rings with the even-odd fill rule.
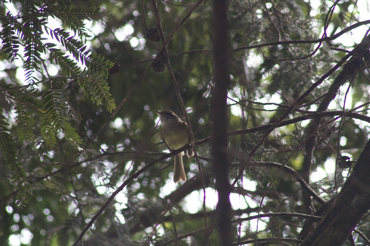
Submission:
[[[229,246],[233,242],[232,213],[230,203],[231,184],[229,182],[229,164],[227,154],[227,94],[230,84],[229,73],[229,22],[228,2],[213,1],[213,50],[215,87],[212,95],[212,166],[218,193],[217,213],[221,245]]]

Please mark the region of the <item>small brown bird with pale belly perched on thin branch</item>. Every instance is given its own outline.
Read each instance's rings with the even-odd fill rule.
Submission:
[[[161,139],[170,151],[179,149],[187,143],[190,143],[188,124],[186,124],[186,122],[182,121],[171,110],[157,111],[157,113],[159,114],[159,119],[161,120],[162,124]],[[179,182],[180,180],[186,181],[184,165],[182,164],[183,155],[184,152],[181,152],[175,156],[175,183]],[[193,150],[186,150],[186,155],[188,157],[194,156]]]

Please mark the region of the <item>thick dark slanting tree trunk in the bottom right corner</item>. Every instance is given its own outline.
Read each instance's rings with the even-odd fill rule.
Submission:
[[[342,245],[369,208],[370,140],[323,219],[300,246]]]

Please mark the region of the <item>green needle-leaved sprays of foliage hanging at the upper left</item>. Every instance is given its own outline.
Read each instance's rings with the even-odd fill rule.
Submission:
[[[31,142],[45,153],[65,139],[80,148],[81,136],[68,114],[69,85],[80,86],[93,103],[111,112],[115,102],[107,77],[114,63],[86,45],[91,35],[85,21],[101,19],[101,8],[76,7],[63,0],[2,1],[0,5],[1,55],[13,67],[22,64],[24,70],[23,77],[1,82],[8,110],[1,116],[0,152],[13,172],[11,181],[22,191],[27,182],[17,146]],[[19,12],[12,13],[10,7]],[[60,27],[55,27],[57,23]],[[50,75],[50,64],[58,66],[57,76]]]

